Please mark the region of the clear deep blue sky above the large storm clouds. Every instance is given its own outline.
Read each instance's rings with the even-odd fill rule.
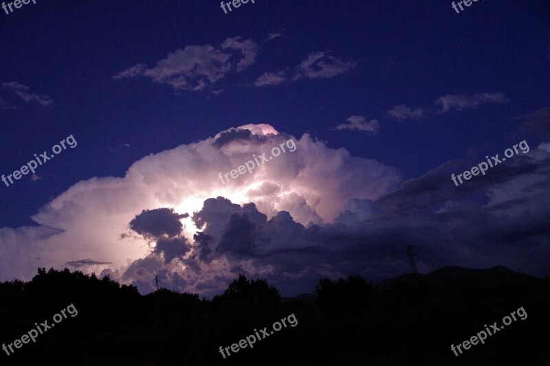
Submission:
[[[122,178],[150,153],[245,124],[308,133],[404,180],[455,159],[462,172],[522,139],[536,149],[547,121],[525,127],[533,117],[522,116],[550,105],[549,24],[542,0],[479,0],[460,14],[441,0],[256,0],[229,14],[206,0],[36,0],[0,12],[0,174],[78,141],[37,169],[41,179],[0,183],[0,227],[36,225],[30,217],[79,181]],[[255,47],[242,69],[248,51],[224,47],[228,38]],[[186,71],[190,87],[175,87],[181,64],[155,69],[207,45],[232,55],[214,66],[217,80],[202,64],[201,76]],[[308,58],[320,63],[307,69]],[[113,78],[135,65],[138,75]],[[255,85],[264,73],[285,80]],[[349,118],[363,128],[336,128]]]

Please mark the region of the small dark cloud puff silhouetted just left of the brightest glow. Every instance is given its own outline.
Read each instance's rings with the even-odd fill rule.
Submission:
[[[176,214],[174,209],[168,208],[144,209],[130,221],[130,228],[146,238],[155,238],[163,234],[170,237],[178,236],[183,228],[179,219],[188,216]]]

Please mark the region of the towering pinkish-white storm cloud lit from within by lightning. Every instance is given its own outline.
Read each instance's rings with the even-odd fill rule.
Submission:
[[[254,160],[253,155],[267,152],[270,156],[274,146],[289,139],[296,141],[294,152],[284,152],[253,174],[229,183],[219,180],[219,172],[236,169]],[[145,258],[149,258],[145,262],[149,269],[156,263],[183,278],[184,268],[202,266],[207,271],[210,266],[227,264],[223,256],[213,258],[208,266],[190,260],[195,251],[188,249],[195,245],[197,229],[186,214],[200,211],[208,198],[223,196],[236,205],[254,202],[266,220],[281,210],[289,211],[293,220],[308,225],[331,222],[351,196],[375,199],[394,190],[401,179],[395,168],[353,157],[341,148],[328,148],[307,134],[298,139],[267,124],[230,128],[215,137],[144,157],[123,178],[107,176],[76,183],[32,216],[35,226],[1,228],[0,279],[29,279],[38,267],[61,268],[69,262],[83,271],[87,263],[90,268],[94,265],[94,271],[101,266],[112,278],[122,279],[129,264]],[[175,213],[181,216],[165,217]],[[162,223],[157,221],[161,217]],[[182,225],[180,233],[177,220]],[[231,238],[229,233],[225,236],[226,249],[232,248]],[[182,260],[191,262],[181,264]],[[223,268],[232,275],[230,268]],[[138,277],[124,276],[146,289],[149,285]],[[189,278],[186,281],[194,283]],[[202,288],[200,284],[189,286]]]

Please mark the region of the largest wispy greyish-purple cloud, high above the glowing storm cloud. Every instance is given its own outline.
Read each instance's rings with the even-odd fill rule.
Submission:
[[[233,49],[241,52],[241,60],[234,61],[234,56],[224,50]],[[211,45],[191,45],[184,49],[170,52],[157,65],[148,68],[137,64],[113,76],[114,79],[145,76],[154,82],[168,84],[174,90],[201,91],[215,84],[226,73],[235,68],[243,71],[256,60],[258,45],[254,41],[242,41],[241,37],[227,38],[221,47]]]

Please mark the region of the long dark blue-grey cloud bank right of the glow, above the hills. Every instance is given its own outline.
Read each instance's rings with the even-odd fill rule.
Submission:
[[[456,187],[450,174],[464,163],[450,161],[377,200],[349,200],[333,224],[307,227],[287,211],[267,220],[254,204],[210,198],[193,217],[204,230],[185,262],[193,263],[188,274],[219,271],[214,263],[221,261],[231,275],[261,274],[296,294],[311,291],[319,277],[358,273],[377,281],[406,273],[406,246],[413,245],[421,272],[504,264],[542,275],[550,271],[550,195],[541,184],[549,164],[534,149]]]

